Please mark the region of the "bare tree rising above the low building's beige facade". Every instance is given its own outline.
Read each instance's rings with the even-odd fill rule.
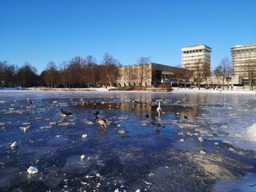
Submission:
[[[138,59],[138,80],[140,80],[140,86],[143,85],[143,82],[148,79],[150,69],[148,64],[151,63],[149,57],[140,57]]]

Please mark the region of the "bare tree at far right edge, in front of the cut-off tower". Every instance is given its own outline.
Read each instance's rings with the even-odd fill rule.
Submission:
[[[247,77],[249,90],[252,91],[253,82],[256,79],[256,59],[246,61],[246,64],[244,65],[244,77]]]

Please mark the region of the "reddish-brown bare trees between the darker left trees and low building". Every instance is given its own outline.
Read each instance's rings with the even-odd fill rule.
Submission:
[[[91,56],[72,58],[69,63],[63,62],[59,70],[53,61],[50,61],[42,72],[45,84],[50,87],[83,88],[89,86],[113,85],[118,77],[119,62],[109,53],[105,53],[101,64]]]

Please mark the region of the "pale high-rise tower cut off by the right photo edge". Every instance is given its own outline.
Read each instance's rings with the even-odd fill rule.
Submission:
[[[256,44],[236,45],[231,47],[233,74],[241,77],[246,76],[246,64],[256,61]]]

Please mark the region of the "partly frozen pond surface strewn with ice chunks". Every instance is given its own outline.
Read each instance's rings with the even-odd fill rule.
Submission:
[[[256,191],[255,109],[241,95],[1,91],[0,190]]]

